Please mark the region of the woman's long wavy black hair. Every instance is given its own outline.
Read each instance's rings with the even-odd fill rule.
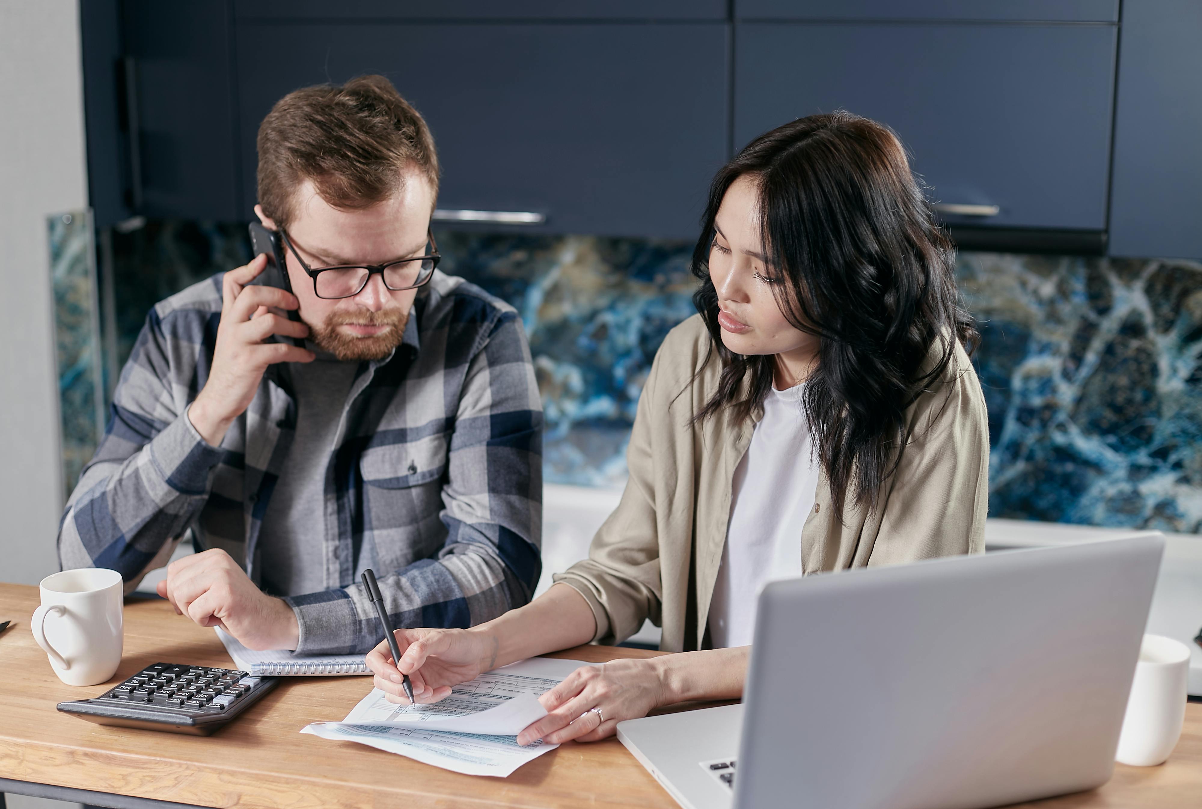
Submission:
[[[773,286],[776,304],[819,338],[803,403],[841,519],[849,494],[859,506],[876,504],[910,438],[906,409],[945,371],[957,343],[976,346],[953,248],[887,126],[840,111],[757,137],[710,184],[692,255],[701,280],[694,303],[724,365],[697,420],[750,417],[773,381],[774,355],[737,355],[722,344],[709,279],[714,218],[740,177],[758,189],[764,255],[783,279]]]

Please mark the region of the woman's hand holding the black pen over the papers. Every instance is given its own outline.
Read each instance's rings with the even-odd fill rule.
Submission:
[[[451,695],[451,686],[475,679],[496,665],[498,641],[490,632],[464,629],[398,629],[400,662],[392,659],[388,642],[368,653],[368,667],[375,673],[371,684],[389,702],[409,702],[401,688],[401,673],[409,674],[417,702],[438,702]]]

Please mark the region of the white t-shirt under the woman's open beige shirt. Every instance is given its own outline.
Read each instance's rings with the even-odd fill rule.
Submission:
[[[709,603],[715,649],[750,644],[760,589],[769,579],[802,575],[802,527],[819,483],[804,389],[773,387],[734,470],[722,565]]]

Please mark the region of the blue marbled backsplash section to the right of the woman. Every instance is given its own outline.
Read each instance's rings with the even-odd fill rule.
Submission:
[[[1202,264],[966,254],[989,513],[1202,530]]]

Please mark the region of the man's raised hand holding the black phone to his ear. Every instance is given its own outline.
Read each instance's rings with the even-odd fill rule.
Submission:
[[[233,420],[255,398],[267,367],[278,362],[313,362],[314,353],[290,343],[264,343],[273,334],[305,338],[309,327],[275,310],[299,308],[291,292],[274,286],[250,285],[267,267],[260,254],[246,266],[225,274],[221,284],[221,322],[213,352],[213,369],[188,410],[192,427],[218,446]]]

